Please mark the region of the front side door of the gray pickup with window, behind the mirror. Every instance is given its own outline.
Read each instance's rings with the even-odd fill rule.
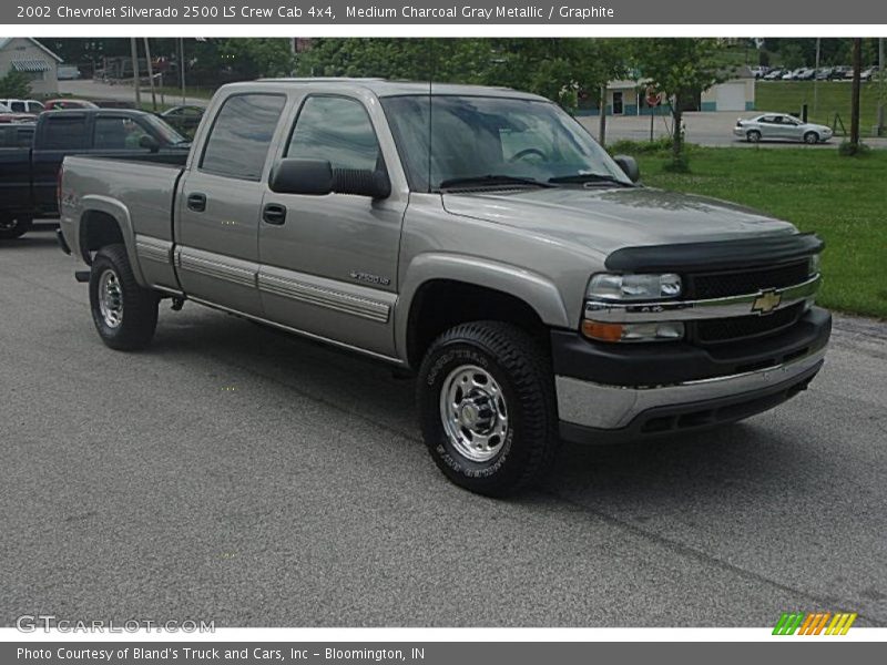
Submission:
[[[387,131],[361,99],[309,94],[282,153],[327,160],[333,168],[386,170]],[[387,134],[390,139],[390,134]],[[394,145],[386,143],[390,151]],[[397,258],[408,192],[387,198],[278,194],[266,188],[264,206],[283,219],[259,225],[259,290],[268,319],[385,356],[394,356]]]

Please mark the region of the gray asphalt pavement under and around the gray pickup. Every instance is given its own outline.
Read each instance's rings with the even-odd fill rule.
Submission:
[[[887,325],[694,437],[564,447],[513,501],[450,485],[386,367],[186,304],[105,348],[51,227],[0,245],[0,624],[887,625]]]

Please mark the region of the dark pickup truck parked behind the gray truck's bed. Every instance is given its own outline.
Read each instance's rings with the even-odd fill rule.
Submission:
[[[0,151],[0,239],[27,233],[34,217],[58,216],[58,173],[67,155],[184,164],[188,146],[190,140],[143,111],[41,113],[31,145]]]

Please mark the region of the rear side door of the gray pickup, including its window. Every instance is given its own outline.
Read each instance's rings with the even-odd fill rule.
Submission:
[[[202,153],[193,155],[183,176],[175,263],[182,288],[195,299],[262,315],[256,287],[259,209],[267,155],[285,106],[282,94],[228,96]]]

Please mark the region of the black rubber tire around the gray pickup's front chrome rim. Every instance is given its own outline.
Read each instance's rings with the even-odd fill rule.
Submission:
[[[443,424],[441,390],[461,367],[488,372],[504,397],[508,431],[495,458],[462,454]],[[450,328],[428,349],[416,399],[422,438],[435,463],[453,483],[488,497],[506,497],[538,479],[559,446],[551,361],[542,345],[510,324],[473,321]]]

